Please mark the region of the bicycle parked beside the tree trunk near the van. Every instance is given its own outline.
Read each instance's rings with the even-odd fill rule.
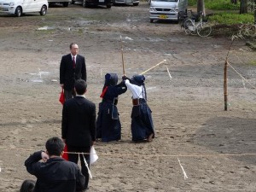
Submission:
[[[212,26],[207,24],[207,17],[205,17],[202,13],[200,13],[201,17],[199,22],[195,23],[195,20],[187,19],[184,23],[185,32],[187,34],[196,35],[198,34],[200,37],[205,38],[208,37],[212,32]]]

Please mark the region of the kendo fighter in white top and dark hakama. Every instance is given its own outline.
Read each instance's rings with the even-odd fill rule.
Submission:
[[[132,79],[123,76],[128,90],[132,93],[131,135],[133,142],[151,142],[154,138],[152,111],[147,104],[145,77],[134,75]]]

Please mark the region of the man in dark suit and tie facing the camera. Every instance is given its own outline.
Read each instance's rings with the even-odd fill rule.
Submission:
[[[79,45],[70,44],[70,54],[64,55],[61,58],[60,67],[60,84],[64,89],[65,100],[75,96],[73,90],[74,83],[77,79],[86,81],[86,66],[84,56],[78,55]]]

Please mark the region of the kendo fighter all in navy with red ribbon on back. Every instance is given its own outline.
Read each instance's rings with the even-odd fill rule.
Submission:
[[[96,120],[96,138],[102,142],[119,141],[121,139],[121,124],[117,108],[118,96],[125,93],[125,82],[118,83],[116,73],[105,75],[105,84],[102,89],[102,102],[99,103],[99,112]]]

